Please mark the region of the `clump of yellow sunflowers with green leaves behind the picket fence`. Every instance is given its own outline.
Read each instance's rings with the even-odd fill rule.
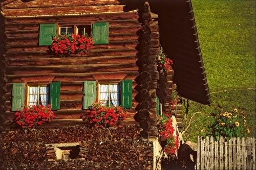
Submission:
[[[245,113],[233,109],[229,112],[219,110],[212,113],[211,125],[209,126],[208,136],[213,136],[215,140],[219,140],[220,136],[230,139],[231,137],[245,137],[250,133],[246,127]]]

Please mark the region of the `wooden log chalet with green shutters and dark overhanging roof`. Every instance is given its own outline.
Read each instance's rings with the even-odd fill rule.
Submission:
[[[2,0],[2,125],[16,110],[35,104],[51,104],[52,128],[76,125],[93,101],[109,100],[129,112],[124,124],[136,119],[146,134],[157,135],[156,114],[171,113],[173,89],[173,74],[166,78],[157,71],[160,43],[174,60],[178,92],[210,104],[191,2],[148,3]],[[52,36],[63,32],[87,32],[95,47],[82,56],[53,55]]]

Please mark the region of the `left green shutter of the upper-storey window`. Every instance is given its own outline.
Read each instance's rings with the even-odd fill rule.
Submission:
[[[39,45],[51,45],[52,37],[56,35],[56,24],[40,24]]]

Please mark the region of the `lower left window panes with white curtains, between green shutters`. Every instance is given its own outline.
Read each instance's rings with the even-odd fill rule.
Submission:
[[[47,106],[49,104],[49,87],[42,86],[28,86],[28,105]]]

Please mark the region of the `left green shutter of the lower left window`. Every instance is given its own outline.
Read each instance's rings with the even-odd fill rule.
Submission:
[[[25,84],[13,83],[12,85],[12,111],[22,110],[25,99]]]

